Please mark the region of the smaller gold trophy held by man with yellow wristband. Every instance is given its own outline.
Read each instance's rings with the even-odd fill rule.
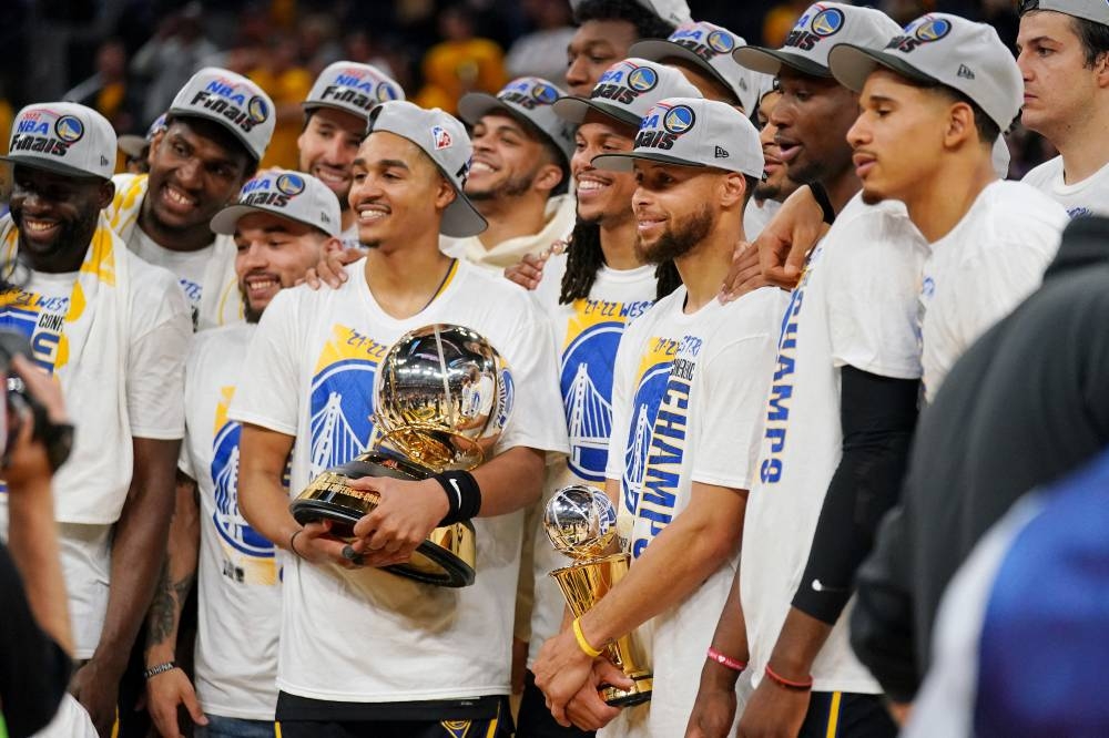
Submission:
[[[604,492],[594,486],[571,484],[558,490],[543,513],[543,529],[551,544],[577,560],[557,568],[551,576],[574,617],[581,617],[628,573],[631,555],[607,554],[617,534],[617,512]],[[604,647],[606,657],[634,681],[630,689],[602,685],[601,699],[629,707],[651,699],[653,674],[647,667],[634,633]]]

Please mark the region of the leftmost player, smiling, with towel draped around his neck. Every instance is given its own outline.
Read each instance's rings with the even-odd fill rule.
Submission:
[[[0,327],[27,337],[80,429],[53,484],[80,705],[64,701],[44,735],[109,736],[165,551],[189,308],[174,277],[131,254],[102,214],[116,150],[109,122],[42,103],[20,111],[12,132],[0,244],[4,263],[18,256],[31,273],[0,295]]]

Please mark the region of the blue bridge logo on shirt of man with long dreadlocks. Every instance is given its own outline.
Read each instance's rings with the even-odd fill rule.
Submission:
[[[578,299],[562,345],[560,382],[570,432],[570,471],[604,481],[612,435],[612,365],[629,322],[651,303]]]

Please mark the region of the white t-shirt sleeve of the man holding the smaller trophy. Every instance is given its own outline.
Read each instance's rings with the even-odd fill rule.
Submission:
[[[751,489],[776,348],[773,331],[747,336],[703,367],[704,385],[690,413],[698,424],[694,482]]]

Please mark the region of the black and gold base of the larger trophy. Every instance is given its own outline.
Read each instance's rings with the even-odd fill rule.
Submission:
[[[355,523],[377,508],[378,495],[353,490],[346,480],[362,476],[421,480],[430,474],[426,468],[403,457],[370,451],[319,474],[293,501],[289,512],[302,525],[329,520],[333,535],[354,539]],[[466,521],[435,529],[409,561],[384,568],[424,584],[465,587],[474,584],[476,556],[474,525]]]

